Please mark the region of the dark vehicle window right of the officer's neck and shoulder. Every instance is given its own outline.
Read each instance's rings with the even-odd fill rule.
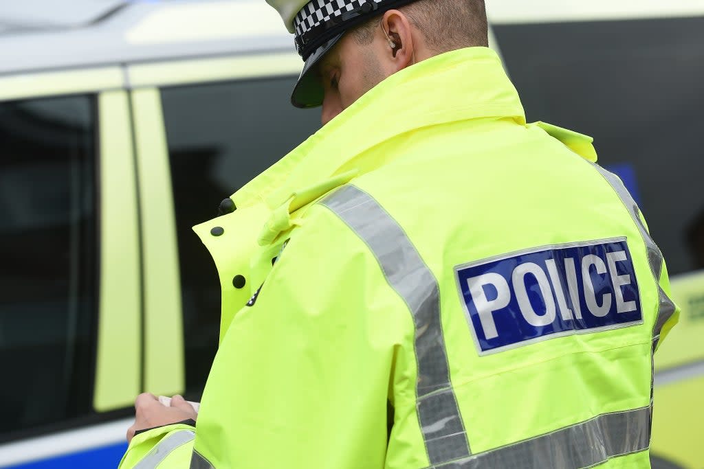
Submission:
[[[529,120],[593,136],[601,165],[639,201],[670,273],[704,269],[704,18],[494,32]]]

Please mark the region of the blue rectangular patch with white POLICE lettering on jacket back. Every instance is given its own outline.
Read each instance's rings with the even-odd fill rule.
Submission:
[[[625,238],[536,248],[455,274],[480,354],[643,321]]]

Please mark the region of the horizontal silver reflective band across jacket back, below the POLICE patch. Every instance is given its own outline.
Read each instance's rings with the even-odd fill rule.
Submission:
[[[546,435],[432,468],[588,468],[609,458],[648,449],[649,428],[649,407],[604,413]]]

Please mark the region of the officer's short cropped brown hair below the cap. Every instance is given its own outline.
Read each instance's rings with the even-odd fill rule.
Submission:
[[[484,0],[416,0],[398,8],[420,30],[437,53],[472,46],[489,46]],[[370,44],[379,17],[351,31],[360,45]]]

